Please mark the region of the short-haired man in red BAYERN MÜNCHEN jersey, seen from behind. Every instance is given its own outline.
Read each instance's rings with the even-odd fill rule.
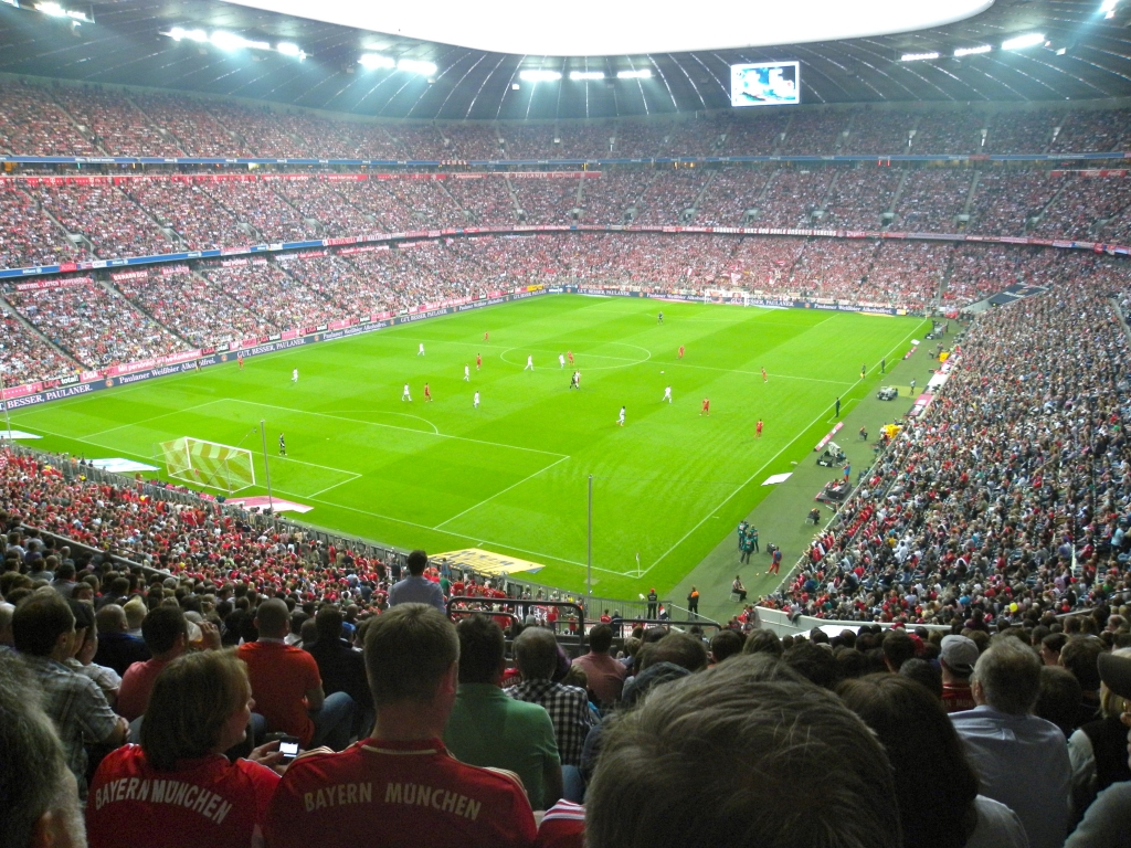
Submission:
[[[441,737],[459,675],[456,626],[399,604],[365,633],[370,738],[295,760],[267,814],[271,848],[520,848],[537,834],[516,775],[456,760]]]

